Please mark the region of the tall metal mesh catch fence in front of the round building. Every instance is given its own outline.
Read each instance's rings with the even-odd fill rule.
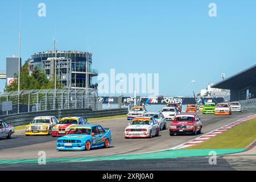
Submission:
[[[97,90],[46,89],[0,94],[0,115],[59,109],[97,110]]]

